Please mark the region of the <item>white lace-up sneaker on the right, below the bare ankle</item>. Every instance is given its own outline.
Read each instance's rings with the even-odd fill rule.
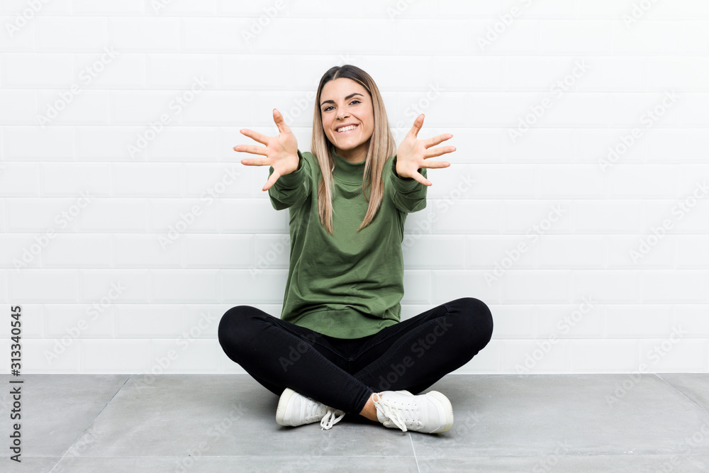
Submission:
[[[378,399],[376,399],[378,398]],[[413,396],[401,391],[383,391],[372,398],[376,418],[384,427],[440,433],[453,426],[453,407],[438,391]]]

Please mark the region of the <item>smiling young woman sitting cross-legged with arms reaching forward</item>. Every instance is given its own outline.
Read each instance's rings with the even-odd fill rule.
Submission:
[[[276,421],[331,428],[345,413],[389,428],[439,433],[453,425],[450,401],[419,394],[471,360],[492,336],[484,302],[463,297],[400,321],[404,221],[426,206],[432,148],[452,137],[418,140],[423,114],[396,148],[384,102],[359,67],[332,67],[320,79],[311,152],[274,109],[279,135],[244,135],[238,145],[269,165],[263,187],[276,210],[289,209],[291,252],[281,317],[235,306],[219,343],[257,382],[280,396]]]

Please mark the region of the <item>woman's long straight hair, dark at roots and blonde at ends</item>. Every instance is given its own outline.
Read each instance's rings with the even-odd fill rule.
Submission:
[[[320,94],[325,84],[334,79],[345,77],[362,85],[369,92],[374,109],[374,131],[369,138],[367,145],[367,157],[364,164],[364,177],[362,178],[362,194],[369,202],[367,213],[362,224],[357,230],[369,225],[379,211],[381,201],[384,199],[384,179],[382,177],[384,164],[396,153],[396,142],[389,128],[389,119],[386,117],[386,108],[381,99],[379,89],[376,87],[372,77],[359,69],[357,66],[345,64],[328,69],[320,78],[318,94],[315,101],[315,113],[313,115],[313,142],[311,152],[318,158],[322,177],[318,182],[318,215],[320,224],[325,227],[331,235],[333,234],[333,172],[335,170],[335,158],[332,153],[335,148],[323,130],[323,116],[320,112]],[[369,196],[366,190],[369,188]]]

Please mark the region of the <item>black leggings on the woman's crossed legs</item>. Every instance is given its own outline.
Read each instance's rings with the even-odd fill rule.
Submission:
[[[219,343],[257,382],[280,396],[286,387],[345,413],[372,392],[419,394],[462,367],[492,337],[490,309],[463,297],[363,338],[333,338],[252,306],[230,308]]]

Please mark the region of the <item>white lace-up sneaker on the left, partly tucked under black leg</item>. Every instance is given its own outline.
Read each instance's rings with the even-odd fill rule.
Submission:
[[[320,421],[322,430],[330,430],[343,417],[345,412],[313,401],[290,388],[284,389],[276,409],[276,422],[289,427]]]

